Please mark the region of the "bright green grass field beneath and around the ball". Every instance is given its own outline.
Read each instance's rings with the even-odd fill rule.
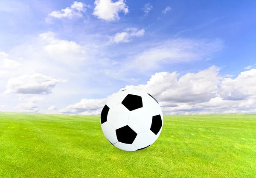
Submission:
[[[135,152],[104,137],[99,116],[0,114],[0,178],[255,178],[256,115],[164,116]]]

